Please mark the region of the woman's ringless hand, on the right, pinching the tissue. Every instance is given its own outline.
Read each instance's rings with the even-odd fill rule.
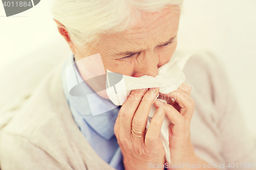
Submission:
[[[166,100],[167,104],[156,100],[155,107],[163,108],[172,123],[169,126],[169,148],[172,164],[195,162],[197,157],[190,142],[190,120],[194,112],[195,102],[190,98],[189,86],[182,84],[173,92],[160,94],[159,99]]]

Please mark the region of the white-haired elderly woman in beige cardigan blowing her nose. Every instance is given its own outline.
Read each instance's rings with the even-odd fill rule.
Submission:
[[[105,72],[157,76],[176,50],[181,7],[182,0],[55,0],[54,20],[73,54],[42,81],[4,129],[1,168],[255,168],[255,139],[246,131],[223,67],[207,52],[195,53],[184,67],[193,89],[182,84],[158,97],[174,101],[155,100],[158,88],[133,90],[121,107],[92,116],[87,98],[70,94],[66,68],[95,54]],[[86,80],[82,65],[75,67],[76,78]],[[99,91],[86,82],[84,87]],[[98,111],[110,102],[105,93],[94,101]],[[153,104],[157,110],[145,130]],[[165,115],[172,123],[171,162],[159,137]]]

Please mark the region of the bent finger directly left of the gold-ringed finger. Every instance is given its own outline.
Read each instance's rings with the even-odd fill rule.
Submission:
[[[118,114],[120,114],[120,128],[126,134],[131,133],[134,113],[137,110],[146,91],[147,89],[132,90],[131,94],[119,110]]]

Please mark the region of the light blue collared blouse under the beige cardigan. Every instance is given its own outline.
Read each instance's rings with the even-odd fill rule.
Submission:
[[[66,79],[66,68],[74,63],[74,55],[70,56],[62,67],[62,86],[65,96],[68,100],[71,113],[74,120],[79,127],[80,131],[86,137],[91,144],[95,152],[112,167],[123,170],[122,153],[117,143],[116,136],[114,134],[115,120],[118,115],[120,107],[113,110],[92,116],[91,109],[86,96],[72,96],[69,93]],[[74,64],[76,65],[76,64]],[[76,68],[77,69],[77,68]],[[77,69],[78,70],[78,69]],[[79,71],[78,71],[79,72]],[[80,74],[77,76],[81,77]],[[93,90],[83,82],[86,90]],[[97,109],[101,112],[101,106],[106,105],[105,99],[99,95],[94,95],[95,102],[93,102]],[[112,105],[114,105],[111,102]]]

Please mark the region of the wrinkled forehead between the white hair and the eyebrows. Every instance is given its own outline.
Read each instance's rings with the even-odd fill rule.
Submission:
[[[166,8],[160,12],[144,12],[130,29],[103,35],[98,44],[116,48],[164,42],[178,32],[180,11],[174,10],[175,8],[177,7]]]

